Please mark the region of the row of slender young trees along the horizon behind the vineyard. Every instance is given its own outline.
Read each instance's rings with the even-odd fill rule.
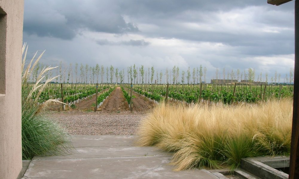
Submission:
[[[33,70],[31,75],[31,80],[35,81],[38,78],[39,71],[46,66],[44,64],[38,63]],[[54,75],[55,70],[50,70],[45,74],[45,80],[51,78]],[[94,67],[89,66],[88,64],[72,64],[70,63],[68,67],[62,67],[62,61],[60,65],[56,68],[56,77],[54,79],[55,83],[85,83],[85,84],[94,84],[94,83],[132,83],[132,84],[199,84],[207,83],[206,75],[207,68],[200,65],[199,67],[193,67],[191,69],[188,67],[187,71],[181,70],[178,66],[173,66],[173,68],[166,68],[163,73],[162,70],[155,70],[154,66],[148,67],[147,69],[141,65],[137,67],[135,64],[128,66],[126,69],[115,68],[112,65],[104,67],[103,65],[96,64]],[[126,77],[125,77],[126,75]],[[163,79],[164,77],[164,79]],[[127,81],[126,81],[127,79]],[[222,75],[219,73],[219,69],[216,68],[215,78],[216,80],[237,80],[239,81],[244,79],[248,81],[265,81],[271,83],[280,82],[281,74],[278,74],[275,71],[274,76],[271,76],[270,81],[268,79],[268,73],[264,75],[262,72],[257,75],[255,69],[248,68],[248,70],[240,71],[226,71],[225,68],[222,69]],[[154,81],[156,80],[156,81]],[[294,80],[294,69],[290,69],[289,73],[283,78],[284,83],[291,84]]]

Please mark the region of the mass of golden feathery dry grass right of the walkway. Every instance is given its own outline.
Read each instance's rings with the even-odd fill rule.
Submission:
[[[174,152],[175,170],[239,166],[241,158],[289,155],[292,99],[259,104],[160,104],[141,121],[138,143]]]

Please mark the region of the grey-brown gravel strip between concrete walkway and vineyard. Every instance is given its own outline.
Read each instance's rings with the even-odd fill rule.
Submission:
[[[72,113],[48,114],[71,135],[135,135],[143,114],[122,113]]]

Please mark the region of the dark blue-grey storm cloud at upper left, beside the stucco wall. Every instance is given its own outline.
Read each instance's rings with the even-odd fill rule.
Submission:
[[[106,2],[25,1],[24,32],[38,36],[72,39],[81,30],[123,34],[138,32],[132,22],[126,22]]]

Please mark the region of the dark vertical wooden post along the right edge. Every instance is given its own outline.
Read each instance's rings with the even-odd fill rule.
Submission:
[[[295,1],[295,73],[289,178],[299,178],[299,0]]]

